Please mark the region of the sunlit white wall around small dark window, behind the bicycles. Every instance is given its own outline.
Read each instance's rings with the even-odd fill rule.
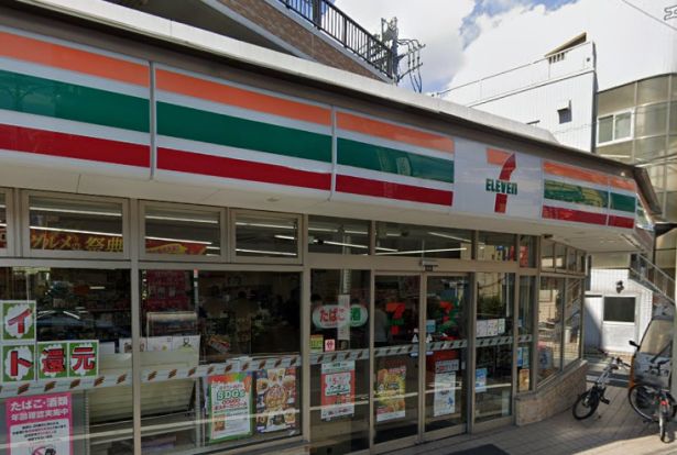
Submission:
[[[586,346],[596,346],[604,351],[633,352],[629,340],[640,342],[652,318],[652,291],[627,278],[627,269],[598,269],[590,273],[588,293],[610,297],[635,297],[635,324],[603,322],[603,298],[586,298]],[[622,280],[624,290],[616,292],[616,282]],[[590,325],[594,324],[594,325]],[[590,335],[588,335],[590,334]]]

